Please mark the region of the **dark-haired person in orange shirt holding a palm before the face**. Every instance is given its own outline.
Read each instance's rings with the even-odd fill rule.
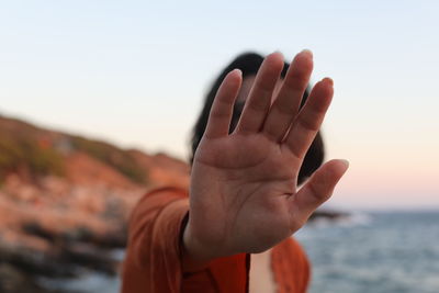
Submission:
[[[309,50],[291,66],[246,54],[224,70],[194,127],[189,190],[154,190],[132,213],[123,293],[306,292],[291,236],[348,169],[322,165],[334,89],[325,78],[307,93],[312,70]]]

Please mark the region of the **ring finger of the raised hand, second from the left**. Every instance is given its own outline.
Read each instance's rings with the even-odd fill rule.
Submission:
[[[252,133],[260,131],[270,109],[271,97],[282,69],[283,55],[279,52],[270,54],[263,60],[244,106],[236,128],[237,132]]]

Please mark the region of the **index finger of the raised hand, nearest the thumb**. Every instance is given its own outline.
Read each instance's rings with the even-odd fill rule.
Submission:
[[[284,144],[302,160],[314,140],[334,94],[333,80],[325,78],[317,82],[301,112],[293,121]]]

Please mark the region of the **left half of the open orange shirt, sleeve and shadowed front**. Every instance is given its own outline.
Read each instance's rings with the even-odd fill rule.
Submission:
[[[183,277],[181,232],[188,212],[188,192],[182,189],[157,189],[140,199],[130,219],[122,293],[246,292],[245,253],[215,259]]]

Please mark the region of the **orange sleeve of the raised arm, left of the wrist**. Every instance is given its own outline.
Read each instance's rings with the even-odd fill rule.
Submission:
[[[180,189],[157,189],[140,199],[130,219],[123,293],[180,292],[180,232],[188,211]]]

